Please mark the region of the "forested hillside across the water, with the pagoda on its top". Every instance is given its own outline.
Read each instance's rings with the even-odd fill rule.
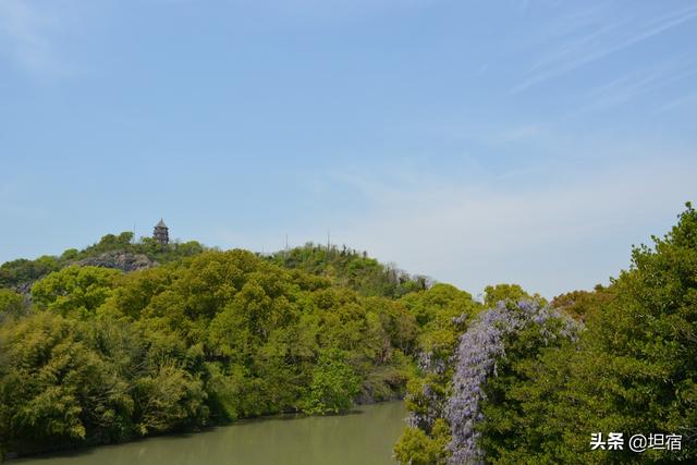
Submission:
[[[3,266],[3,284],[34,283],[29,296],[0,290],[2,451],[402,397],[421,348],[452,344],[453,317],[478,305],[353,252],[281,260],[131,240]],[[81,265],[113,252],[161,265]]]

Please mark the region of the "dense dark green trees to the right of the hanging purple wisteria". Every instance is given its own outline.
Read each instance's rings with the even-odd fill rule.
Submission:
[[[586,321],[576,344],[506,347],[487,386],[481,445],[492,463],[693,463],[697,458],[697,212],[687,205],[632,266],[560,308]],[[578,307],[580,306],[580,307]],[[591,433],[675,433],[682,450],[591,451]]]

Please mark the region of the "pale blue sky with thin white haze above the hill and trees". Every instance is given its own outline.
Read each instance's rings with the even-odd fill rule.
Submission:
[[[697,200],[693,1],[0,0],[0,261],[109,232],[607,283]]]

